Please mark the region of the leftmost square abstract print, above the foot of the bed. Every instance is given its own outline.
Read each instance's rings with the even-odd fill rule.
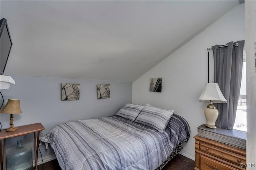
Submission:
[[[80,84],[62,83],[61,100],[79,100]]]

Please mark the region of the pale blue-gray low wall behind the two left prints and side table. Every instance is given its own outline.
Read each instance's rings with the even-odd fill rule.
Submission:
[[[45,130],[40,133],[41,137],[60,123],[114,115],[122,106],[132,102],[132,83],[10,76],[16,84],[10,85],[10,89],[1,90],[1,93],[4,97],[4,105],[9,98],[20,99],[23,113],[14,115],[14,127],[40,122],[45,127]],[[61,101],[61,83],[80,84],[80,99]],[[97,84],[110,84],[110,98],[97,100]],[[2,129],[10,127],[9,121],[10,114],[1,113]],[[32,139],[33,134],[6,139],[7,153],[8,150],[16,147],[18,140],[23,140],[24,144],[32,147]],[[48,148],[45,150],[44,146],[40,147],[43,157],[54,153],[50,147]]]

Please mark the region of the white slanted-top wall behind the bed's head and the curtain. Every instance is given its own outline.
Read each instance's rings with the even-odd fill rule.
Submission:
[[[208,103],[198,102],[198,98],[208,82],[207,48],[244,40],[244,34],[244,4],[239,4],[132,84],[133,104],[149,103],[175,109],[175,113],[188,121],[191,137],[184,144],[182,154],[185,156],[194,159],[193,137],[197,134],[197,127],[206,122],[204,108]],[[213,82],[213,72],[210,51],[210,82]],[[150,78],[163,78],[162,93],[149,92]]]

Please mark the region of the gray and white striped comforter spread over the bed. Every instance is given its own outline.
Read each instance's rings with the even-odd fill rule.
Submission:
[[[176,114],[163,133],[114,115],[63,123],[41,141],[50,143],[62,170],[153,170],[189,135]]]

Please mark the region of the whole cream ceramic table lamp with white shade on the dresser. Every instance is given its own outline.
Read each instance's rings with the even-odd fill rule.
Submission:
[[[227,103],[224,98],[218,83],[208,83],[204,87],[201,96],[198,99],[199,102],[210,102],[208,106],[204,109],[204,115],[206,118],[206,127],[216,128],[215,122],[218,118],[219,111],[214,106],[214,103]]]

